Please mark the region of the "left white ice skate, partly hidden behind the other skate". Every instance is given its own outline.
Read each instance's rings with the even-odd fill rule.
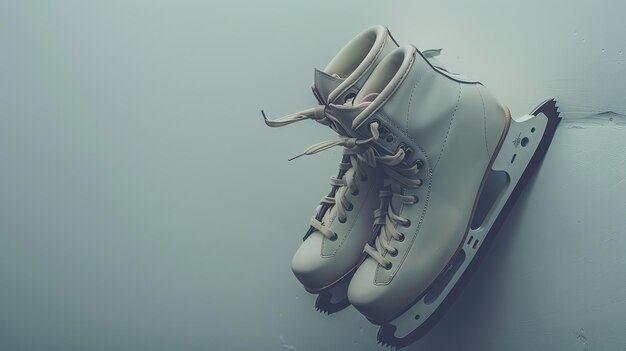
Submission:
[[[324,70],[315,70],[312,89],[320,106],[276,120],[265,118],[266,124],[280,127],[311,119],[332,128],[344,139],[352,138],[352,121],[327,114],[326,105],[351,104],[374,67],[397,46],[383,26],[363,31]],[[359,156],[360,147],[350,141],[344,146],[339,173],[330,181],[330,193],[322,198],[292,260],[294,274],[307,291],[319,294],[315,305],[325,313],[349,305],[349,278],[364,258],[363,246],[373,239],[372,213],[378,206],[382,184],[378,174]],[[315,147],[308,151],[316,152]]]

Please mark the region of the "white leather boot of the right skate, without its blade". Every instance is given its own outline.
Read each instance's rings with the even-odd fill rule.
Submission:
[[[368,318],[387,321],[460,247],[510,117],[482,85],[442,74],[411,46],[387,56],[356,101],[369,94],[379,95],[355,118],[355,129],[367,135],[377,123],[388,131],[378,140],[381,152],[402,162],[384,167],[380,233],[348,296]]]

